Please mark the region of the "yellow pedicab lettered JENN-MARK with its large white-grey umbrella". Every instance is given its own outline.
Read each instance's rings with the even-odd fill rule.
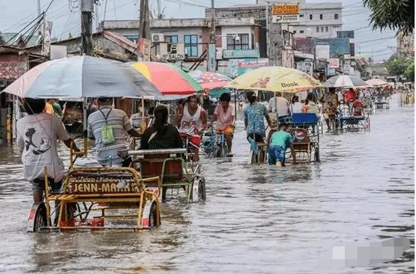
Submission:
[[[79,73],[81,71],[82,73]],[[65,75],[63,77],[62,75]],[[146,229],[160,225],[158,193],[146,184],[160,186],[159,177],[143,179],[132,168],[77,167],[88,153],[86,101],[97,97],[159,95],[143,75],[120,62],[91,56],[51,60],[31,69],[3,92],[36,99],[83,98],[83,151],[70,151],[70,166],[62,188],[44,171],[44,197],[29,211],[28,232],[43,229]],[[55,210],[50,203],[55,201]],[[54,220],[52,219],[54,216]]]

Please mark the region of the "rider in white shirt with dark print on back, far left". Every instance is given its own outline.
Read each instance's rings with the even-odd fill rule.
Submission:
[[[35,202],[42,201],[44,168],[47,168],[53,190],[59,191],[62,186],[65,167],[57,153],[57,140],[79,151],[62,121],[55,115],[43,112],[45,105],[44,99],[25,98],[23,106],[28,115],[16,123],[16,142],[22,151],[23,175],[32,185]]]

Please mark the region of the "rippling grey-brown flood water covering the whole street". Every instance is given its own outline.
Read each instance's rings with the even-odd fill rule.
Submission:
[[[413,273],[414,109],[371,116],[371,132],[324,133],[319,164],[248,165],[237,124],[233,158],[203,159],[205,204],[169,201],[150,232],[27,234],[31,187],[14,147],[0,147],[1,273]],[[66,153],[62,149],[62,154]],[[330,266],[339,242],[404,236],[400,260]]]

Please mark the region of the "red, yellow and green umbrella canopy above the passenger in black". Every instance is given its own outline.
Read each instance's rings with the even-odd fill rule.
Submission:
[[[133,62],[129,66],[144,75],[163,95],[192,95],[204,90],[190,75],[174,64]]]

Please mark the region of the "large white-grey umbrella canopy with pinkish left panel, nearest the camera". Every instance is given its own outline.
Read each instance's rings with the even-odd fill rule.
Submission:
[[[121,62],[88,55],[39,64],[3,91],[38,99],[160,95],[146,77]]]

